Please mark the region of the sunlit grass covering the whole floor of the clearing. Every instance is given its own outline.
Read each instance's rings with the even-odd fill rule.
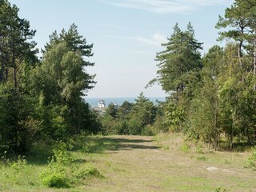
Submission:
[[[68,186],[43,185],[52,149],[38,144],[40,153],[0,163],[0,191],[255,191],[255,171],[244,168],[250,152],[209,151],[180,134],[82,136],[69,144],[73,160],[61,166]]]

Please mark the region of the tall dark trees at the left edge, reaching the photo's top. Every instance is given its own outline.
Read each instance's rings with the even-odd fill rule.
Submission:
[[[19,18],[18,7],[0,0],[0,148],[16,154],[30,148],[40,124],[26,76],[38,61],[30,41],[34,34],[30,22]]]

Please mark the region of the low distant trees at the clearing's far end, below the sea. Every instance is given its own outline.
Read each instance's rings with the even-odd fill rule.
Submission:
[[[110,105],[100,115],[102,134],[155,135],[165,129],[162,102],[154,105],[143,93],[134,103],[123,102],[121,106]]]

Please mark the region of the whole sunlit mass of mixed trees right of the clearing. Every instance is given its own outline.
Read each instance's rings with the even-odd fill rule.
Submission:
[[[156,56],[158,78],[170,94],[165,122],[215,149],[226,136],[234,142],[256,144],[256,2],[236,0],[219,16],[216,27],[225,47],[213,46],[201,56],[202,43],[186,30],[174,26],[164,50]]]

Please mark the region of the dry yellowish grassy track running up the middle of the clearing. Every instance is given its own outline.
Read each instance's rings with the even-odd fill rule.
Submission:
[[[256,191],[255,172],[224,154],[182,152],[179,141],[163,150],[152,137],[111,136],[113,150],[92,159],[105,178],[93,180],[85,191]],[[256,185],[255,185],[256,189]]]

